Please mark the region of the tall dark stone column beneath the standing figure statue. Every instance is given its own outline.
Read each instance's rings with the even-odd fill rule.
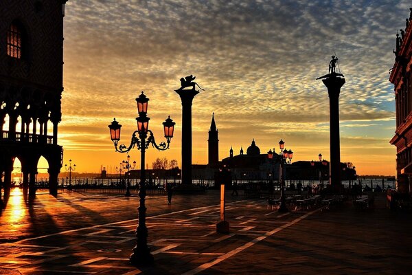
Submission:
[[[328,87],[330,112],[330,185],[341,185],[341,141],[339,137],[339,94],[345,78],[338,74],[328,74],[322,79]]]

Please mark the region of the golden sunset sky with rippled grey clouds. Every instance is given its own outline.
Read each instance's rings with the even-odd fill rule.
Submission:
[[[192,163],[207,164],[214,113],[219,159],[246,151],[294,152],[293,162],[329,160],[329,98],[317,77],[339,58],[346,83],[339,98],[341,162],[358,175],[395,175],[396,129],[389,69],[396,32],[409,1],[130,1],[70,0],[64,19],[62,122],[58,144],[78,172],[98,173],[116,153],[108,124],[122,124],[120,143],[136,129],[135,98],[150,98],[149,128],[164,140],[162,122],[176,122],[168,151],[146,151],[181,164],[181,100],[174,89],[193,74],[201,91],[192,104]],[[139,164],[140,151],[130,151]],[[139,166],[137,167],[139,168]],[[64,168],[62,168],[64,170]]]

